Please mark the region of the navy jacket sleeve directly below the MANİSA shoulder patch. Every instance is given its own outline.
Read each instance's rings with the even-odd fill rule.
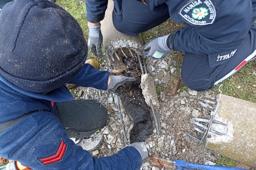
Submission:
[[[180,29],[173,40],[174,50],[195,54],[227,53],[235,50],[252,26],[252,3],[242,0],[221,1],[216,9],[214,23],[206,26],[187,24]]]

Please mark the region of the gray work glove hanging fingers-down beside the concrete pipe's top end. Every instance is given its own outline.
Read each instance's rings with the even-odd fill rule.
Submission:
[[[96,57],[102,58],[101,44],[102,44],[103,37],[100,31],[100,26],[101,24],[99,24],[98,26],[90,26],[88,24],[88,27],[89,27],[88,45],[91,49],[91,52]]]

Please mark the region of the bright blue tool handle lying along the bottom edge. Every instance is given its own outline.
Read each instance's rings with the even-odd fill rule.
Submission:
[[[204,164],[195,164],[189,163],[182,160],[175,160],[175,165],[177,168],[176,170],[186,170],[186,169],[205,169],[205,170],[244,170],[241,168],[232,168],[232,167],[224,167],[224,166],[217,166],[217,165],[204,165]]]

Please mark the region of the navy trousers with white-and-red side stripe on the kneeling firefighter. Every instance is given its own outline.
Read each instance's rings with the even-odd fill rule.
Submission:
[[[115,1],[114,1],[115,2]],[[113,23],[115,28],[127,35],[137,35],[150,30],[166,21],[169,16],[165,4],[158,10],[151,11],[148,5],[136,0],[115,2]],[[237,72],[256,54],[256,26],[252,26],[247,37],[237,48],[237,52],[229,62],[211,68],[208,55],[185,53],[181,68],[181,77],[184,84],[190,89],[204,91],[226,80]]]

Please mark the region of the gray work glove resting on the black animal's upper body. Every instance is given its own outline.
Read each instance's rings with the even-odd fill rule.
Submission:
[[[110,80],[108,90],[112,90],[112,91],[115,91],[117,87],[125,84],[126,82],[134,82],[136,80],[136,78],[125,77],[122,75],[110,75],[110,76],[111,76],[111,80]]]

